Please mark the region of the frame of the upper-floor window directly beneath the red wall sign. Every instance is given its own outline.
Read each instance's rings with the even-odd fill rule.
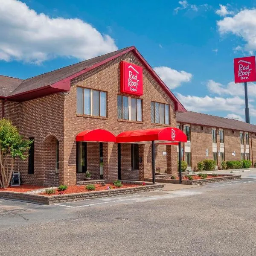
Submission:
[[[118,98],[121,97],[121,118],[119,118],[119,115],[118,115]],[[123,97],[127,97],[128,98],[128,119],[124,119],[123,118]],[[135,99],[135,106],[136,106],[136,120],[132,120],[131,117],[132,117],[132,109],[131,109],[131,101],[132,99]],[[141,116],[140,116],[140,119],[141,120],[138,120],[138,102],[140,102],[140,110],[141,110]],[[131,121],[131,122],[143,122],[143,99],[140,99],[140,98],[136,98],[136,97],[131,97],[131,96],[127,96],[127,95],[122,95],[122,94],[118,94],[117,95],[117,119],[118,120],[125,120],[125,121]]]

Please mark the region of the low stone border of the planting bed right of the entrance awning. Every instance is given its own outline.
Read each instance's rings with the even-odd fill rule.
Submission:
[[[193,175],[191,175],[193,177]],[[206,178],[200,180],[182,180],[183,185],[200,185],[200,184],[207,184],[213,182],[220,182],[224,180],[238,180],[241,178],[241,175],[230,175],[230,174],[219,174],[219,176],[223,177],[213,177],[213,178]],[[152,181],[151,178],[145,178],[145,181]],[[159,183],[172,183],[172,184],[179,184],[179,180],[171,180],[171,179],[156,179],[156,182]]]

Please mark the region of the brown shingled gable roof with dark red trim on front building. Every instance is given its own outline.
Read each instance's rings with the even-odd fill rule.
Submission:
[[[99,67],[121,55],[124,55],[127,52],[133,52],[134,55],[136,55],[136,57],[145,65],[148,72],[151,73],[154,79],[156,79],[156,81],[163,87],[163,90],[165,90],[169,97],[173,100],[175,103],[175,110],[179,112],[186,112],[183,105],[178,101],[178,99],[159,78],[159,76],[157,76],[152,67],[150,67],[147,61],[145,61],[143,56],[134,46],[120,49],[115,52],[110,52],[86,61],[81,61],[77,64],[63,67],[58,70],[53,70],[49,73],[44,73],[29,79],[19,80],[18,83],[15,83],[15,86],[13,85],[13,90],[11,92],[9,91],[8,93],[3,94],[0,90],[0,97],[15,101],[24,101],[51,93],[69,91],[71,79]],[[0,80],[0,88],[1,87],[2,83]]]

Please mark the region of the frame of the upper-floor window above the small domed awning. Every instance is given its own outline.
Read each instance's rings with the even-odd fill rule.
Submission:
[[[81,88],[82,89],[82,109],[83,113],[77,113],[77,105],[76,105],[76,113],[78,115],[86,115],[86,116],[94,116],[94,117],[108,117],[108,92],[104,90],[95,90],[92,88],[88,87],[82,87],[82,86],[77,86],[76,88]],[[90,90],[90,114],[84,113],[84,90]],[[93,115],[93,91],[99,92],[99,116]],[[101,110],[101,100],[100,96],[101,93],[105,93],[105,116],[101,116],[100,110]],[[77,96],[76,96],[76,101],[77,101]]]

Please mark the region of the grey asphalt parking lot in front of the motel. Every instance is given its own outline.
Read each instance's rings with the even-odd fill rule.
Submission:
[[[175,191],[37,205],[0,199],[0,255],[255,255],[256,172]]]

